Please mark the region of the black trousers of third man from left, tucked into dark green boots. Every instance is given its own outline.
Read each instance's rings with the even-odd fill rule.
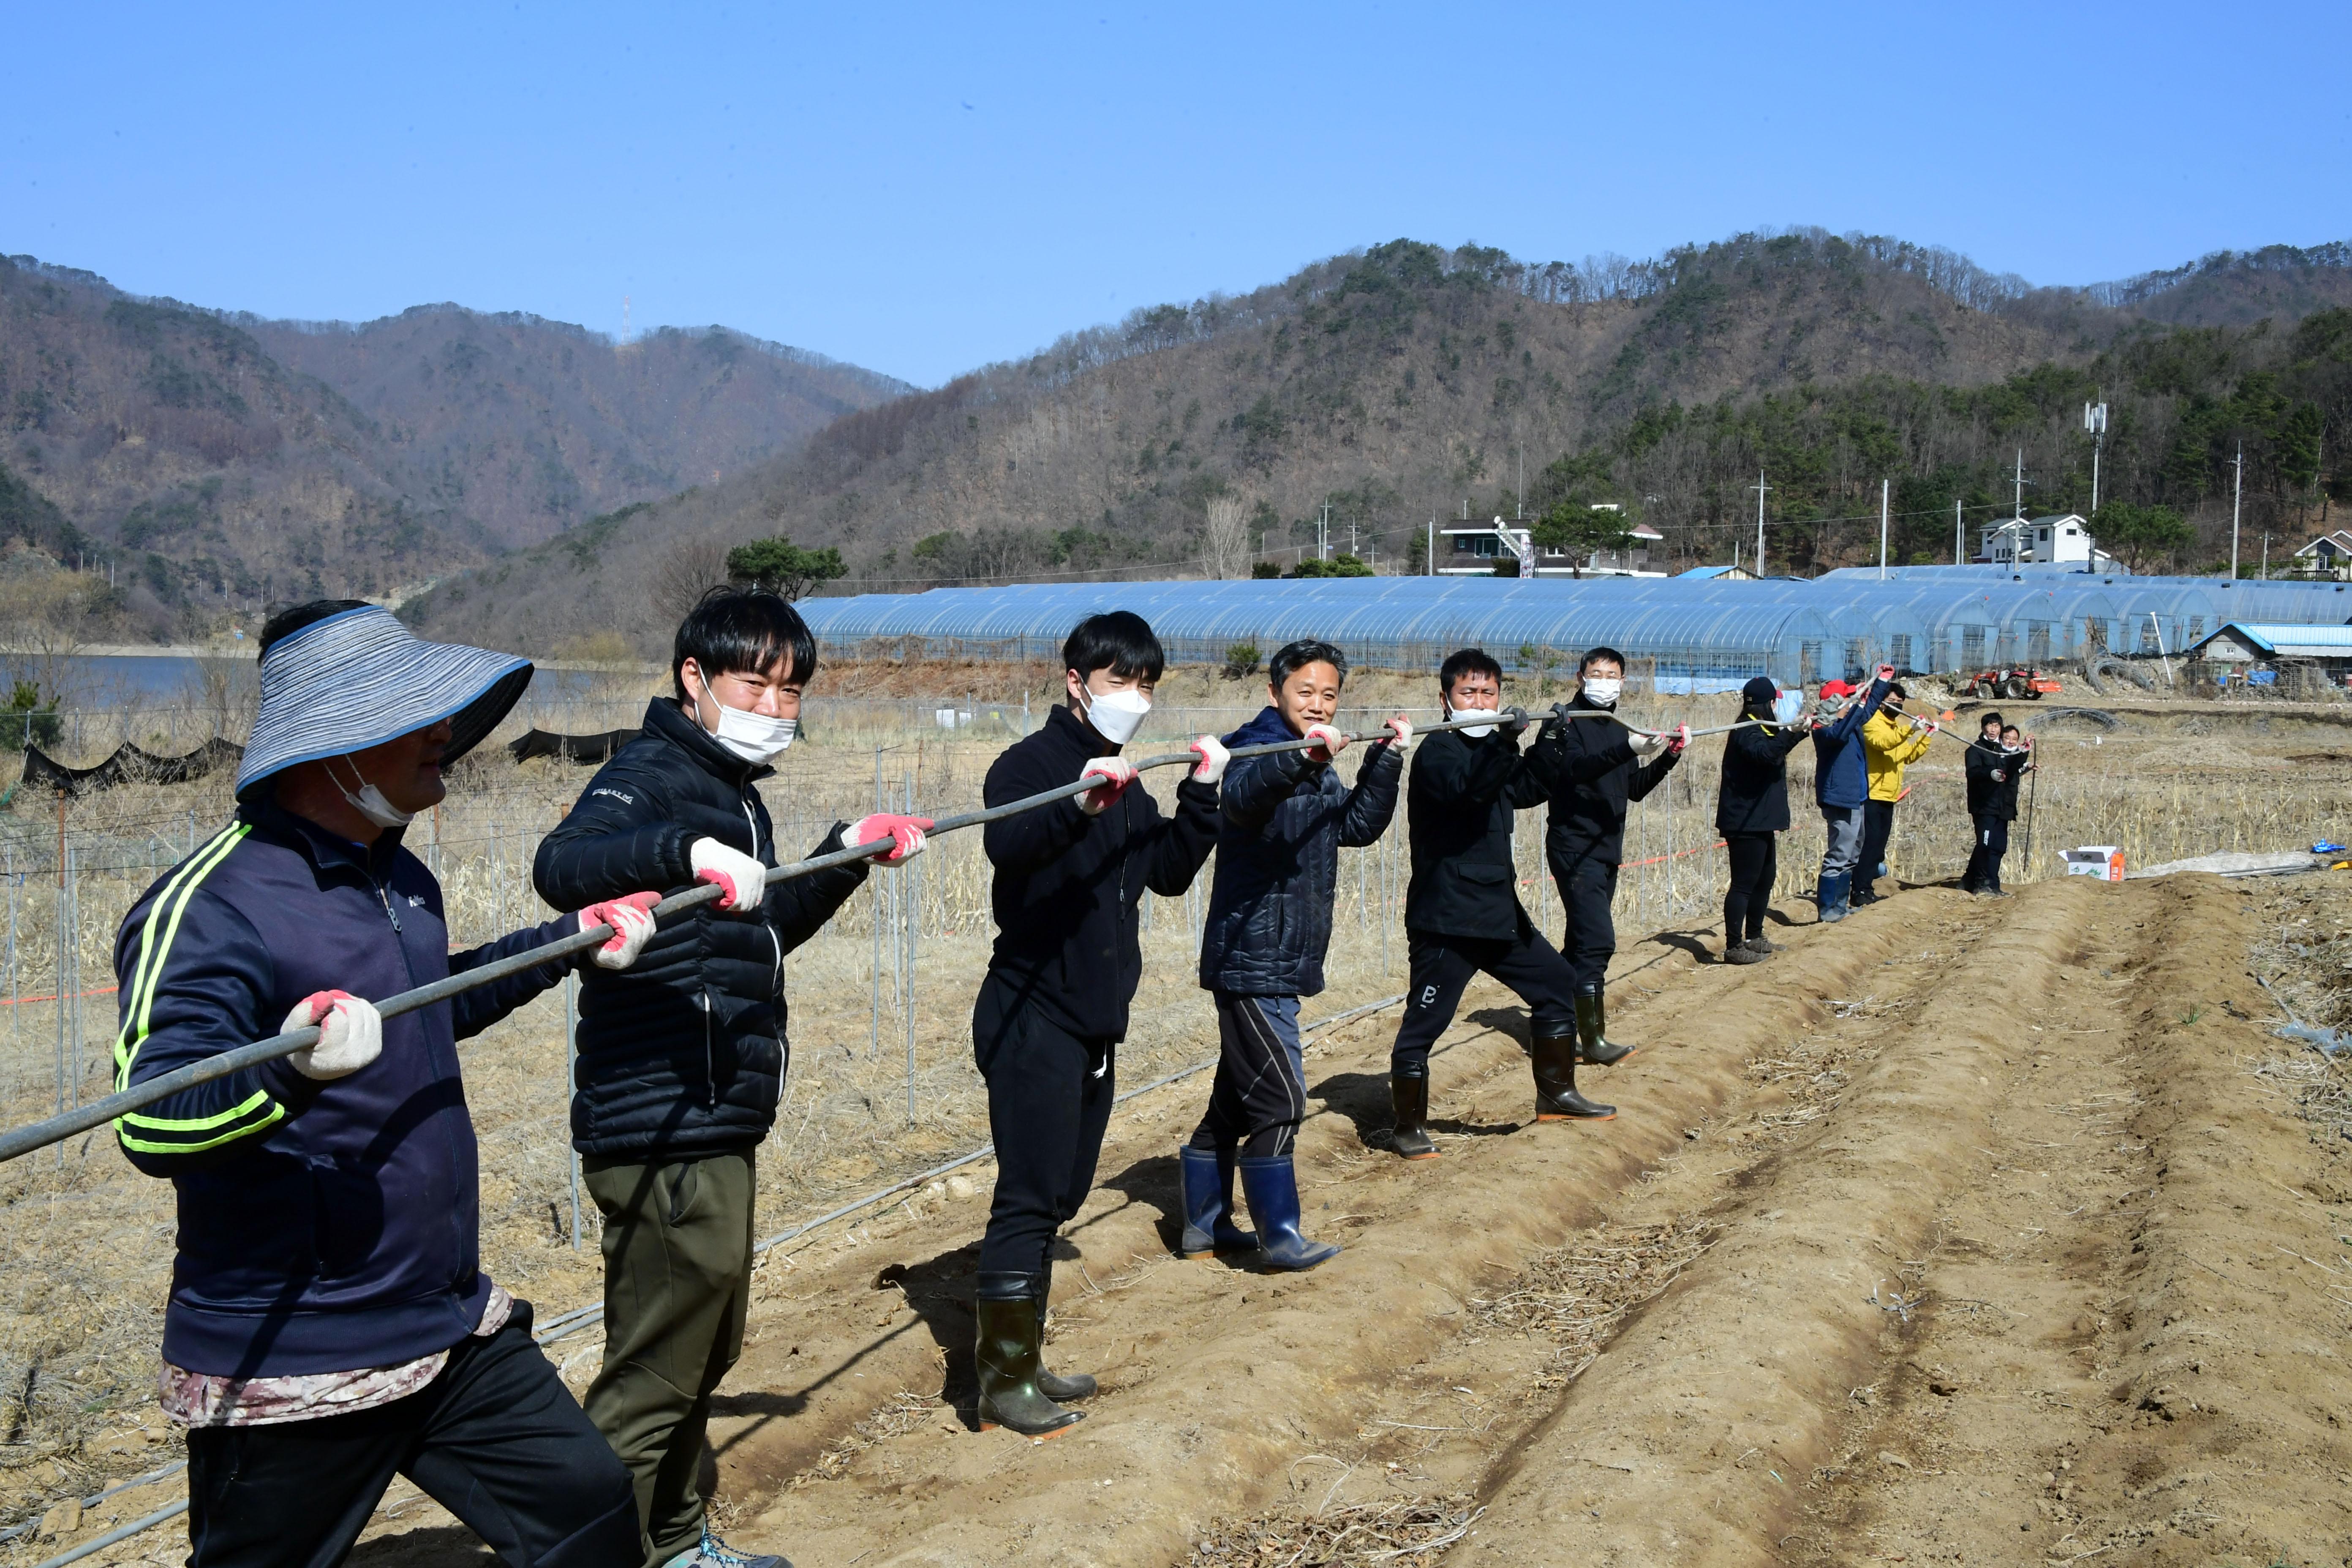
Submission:
[[[1117,1093],[1117,1041],[1061,1030],[995,971],[971,1006],[971,1056],[988,1081],[997,1190],[981,1234],[983,1274],[1051,1267],[1054,1232],[1094,1190]]]

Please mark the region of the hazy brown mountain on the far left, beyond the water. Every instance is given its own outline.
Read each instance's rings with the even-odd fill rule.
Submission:
[[[0,494],[153,635],[405,585],[793,449],[908,390],[724,329],[616,346],[428,306],[263,322],[0,259]]]

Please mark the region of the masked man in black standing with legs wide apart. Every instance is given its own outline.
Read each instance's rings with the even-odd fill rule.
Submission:
[[[1404,790],[1414,849],[1414,877],[1404,889],[1411,987],[1388,1053],[1397,1119],[1390,1147],[1404,1159],[1437,1157],[1428,1131],[1430,1046],[1454,1023],[1463,987],[1479,971],[1526,1001],[1536,1119],[1606,1121],[1616,1114],[1613,1105],[1576,1093],[1576,973],[1526,917],[1510,853],[1512,816],[1550,799],[1557,776],[1519,755],[1529,717],[1517,708],[1498,710],[1503,668],[1484,649],[1449,654],[1437,691],[1449,719],[1491,722],[1432,731]],[[1628,762],[1632,748],[1618,729],[1613,745],[1573,766],[1597,773]]]

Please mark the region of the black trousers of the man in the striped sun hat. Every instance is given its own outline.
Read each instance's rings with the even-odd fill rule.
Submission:
[[[188,1432],[188,1568],[334,1568],[393,1476],[508,1568],[640,1568],[628,1469],[532,1345],[532,1309],[459,1340],[423,1389],[374,1410]]]

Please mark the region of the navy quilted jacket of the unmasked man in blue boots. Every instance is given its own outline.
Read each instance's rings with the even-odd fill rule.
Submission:
[[[1268,708],[1225,745],[1296,741]],[[1216,889],[1200,938],[1200,983],[1244,997],[1315,997],[1331,947],[1338,851],[1388,832],[1404,759],[1374,743],[1341,783],[1329,762],[1305,752],[1240,757],[1225,769],[1225,820],[1216,830]]]

